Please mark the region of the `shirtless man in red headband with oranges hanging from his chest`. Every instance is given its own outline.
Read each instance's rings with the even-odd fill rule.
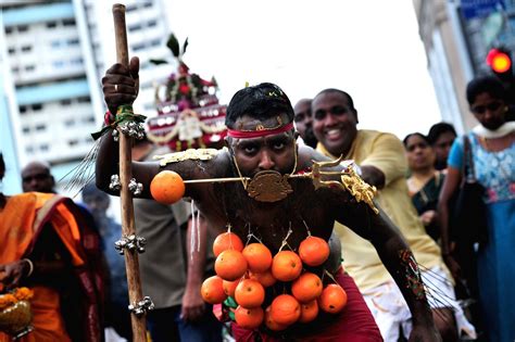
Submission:
[[[111,113],[122,104],[131,104],[137,97],[137,59],[129,67],[113,65],[102,79],[104,98]],[[116,85],[116,86],[115,86]],[[149,185],[163,169],[174,170],[183,179],[208,179],[223,177],[254,177],[262,172],[276,175],[290,175],[309,170],[313,161],[327,161],[326,157],[307,147],[296,143],[293,129],[293,109],[279,87],[261,84],[238,91],[227,107],[228,127],[227,149],[212,151],[209,159],[201,161],[190,153],[181,161],[162,160],[160,163],[133,163],[133,176],[142,182],[142,197],[151,198]],[[111,175],[117,174],[117,145],[105,135],[97,159],[97,185],[109,190]],[[360,179],[354,179],[360,181]],[[287,189],[291,187],[291,192]],[[266,187],[263,187],[266,188]],[[363,185],[363,188],[368,188]],[[306,238],[305,226],[311,233],[328,240],[335,220],[351,227],[356,233],[369,240],[377,250],[386,267],[402,290],[413,314],[414,329],[411,341],[439,341],[427,300],[422,288],[419,273],[413,265],[414,257],[398,232],[398,229],[379,210],[373,211],[374,203],[357,202],[349,192],[335,187],[315,190],[307,178],[288,179],[280,191],[258,194],[248,192],[243,181],[224,183],[187,185],[186,195],[196,201],[202,214],[214,229],[226,230],[230,224],[233,231],[243,241],[252,232],[275,254],[286,238],[296,250]],[[258,190],[261,188],[258,187]],[[266,190],[266,189],[265,189]],[[281,193],[282,197],[277,197]],[[265,198],[267,201],[263,201]],[[344,242],[343,242],[344,245]],[[409,255],[410,262],[401,255]],[[332,270],[332,269],[331,269]],[[362,295],[351,278],[343,273],[337,276],[338,282],[348,293],[348,304],[331,319],[316,320],[310,329],[288,329],[281,339],[329,339],[331,341],[381,341],[380,333]],[[415,279],[415,287],[413,287]],[[256,334],[269,338],[263,331],[243,331],[234,327],[235,338],[252,340]]]

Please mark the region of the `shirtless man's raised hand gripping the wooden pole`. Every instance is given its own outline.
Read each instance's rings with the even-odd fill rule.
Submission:
[[[102,78],[102,91],[109,111],[114,115],[122,104],[133,104],[139,91],[139,59],[131,58],[128,67],[111,66]]]

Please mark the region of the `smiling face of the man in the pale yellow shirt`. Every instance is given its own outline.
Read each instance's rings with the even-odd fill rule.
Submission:
[[[312,103],[313,130],[332,155],[347,154],[357,134],[357,113],[339,92],[318,94]]]

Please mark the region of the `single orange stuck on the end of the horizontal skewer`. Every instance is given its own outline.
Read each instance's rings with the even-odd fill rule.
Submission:
[[[162,170],[150,182],[152,198],[163,204],[173,204],[185,194],[185,182],[179,174]]]

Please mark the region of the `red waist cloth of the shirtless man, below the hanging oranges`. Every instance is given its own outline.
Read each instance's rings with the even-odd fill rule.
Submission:
[[[376,342],[382,341],[379,328],[366,306],[363,295],[354,280],[344,273],[336,276],[338,283],[347,292],[347,306],[338,315],[321,313],[310,324],[294,325],[285,333],[271,335],[261,330],[248,330],[231,324],[233,337],[237,342],[253,342],[258,337],[264,342],[278,341],[347,341]]]

